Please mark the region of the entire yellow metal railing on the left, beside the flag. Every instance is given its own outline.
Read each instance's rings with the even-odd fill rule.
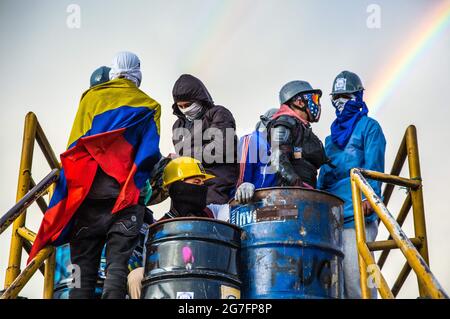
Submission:
[[[32,178],[31,167],[33,163],[34,145],[37,141],[49,166],[53,169],[41,183],[36,185]],[[0,299],[16,298],[25,284],[39,269],[44,274],[44,298],[53,297],[53,280],[55,272],[55,251],[53,247],[42,249],[35,258],[20,270],[22,261],[22,248],[29,253],[36,234],[25,226],[26,209],[36,202],[42,212],[47,209],[47,204],[42,198],[54,182],[57,180],[60,164],[50,147],[50,144],[32,112],[25,117],[25,127],[22,142],[22,153],[19,169],[19,181],[17,185],[17,204],[0,222],[0,234],[12,223],[12,237],[8,268],[5,276],[5,290]],[[33,188],[30,191],[30,188]]]

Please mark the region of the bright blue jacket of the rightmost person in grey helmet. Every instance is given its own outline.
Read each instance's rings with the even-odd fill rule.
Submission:
[[[334,144],[331,135],[325,139],[325,153],[336,166],[323,165],[317,188],[341,197],[344,203],[344,228],[354,227],[350,170],[364,168],[384,172],[386,139],[378,122],[362,116],[355,125],[351,137],[343,149]],[[369,180],[370,185],[381,197],[381,182]],[[364,199],[364,197],[363,197]],[[366,222],[375,221],[377,215],[366,216]]]

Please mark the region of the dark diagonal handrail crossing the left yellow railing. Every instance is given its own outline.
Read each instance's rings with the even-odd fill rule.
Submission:
[[[39,182],[33,189],[24,196],[5,214],[0,218],[0,234],[3,233],[9,225],[17,218],[20,218],[21,214],[26,211],[39,197],[44,194],[47,189],[58,180],[59,169],[53,169],[42,181]],[[20,227],[23,227],[21,225]],[[18,228],[15,230],[17,231]]]

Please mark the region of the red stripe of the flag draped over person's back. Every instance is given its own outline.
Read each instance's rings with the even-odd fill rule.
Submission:
[[[119,129],[81,138],[75,147],[61,154],[67,197],[45,213],[28,262],[42,248],[58,239],[89,193],[99,165],[120,184],[112,213],[138,203],[140,191],[134,183],[137,171],[135,151],[125,139],[124,132],[125,129]]]

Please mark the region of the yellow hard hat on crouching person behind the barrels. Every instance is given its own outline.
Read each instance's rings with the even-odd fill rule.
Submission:
[[[186,178],[200,176],[205,180],[214,178],[214,175],[207,174],[202,163],[192,157],[178,157],[169,162],[163,172],[163,186],[185,180]]]

